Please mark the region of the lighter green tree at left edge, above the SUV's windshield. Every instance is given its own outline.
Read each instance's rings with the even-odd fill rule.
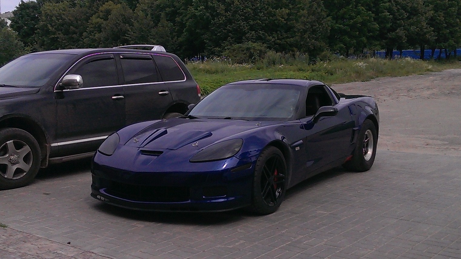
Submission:
[[[19,40],[18,33],[8,27],[0,28],[0,65],[25,53],[24,44]]]

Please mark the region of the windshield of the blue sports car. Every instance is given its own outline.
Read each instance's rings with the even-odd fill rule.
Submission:
[[[248,84],[218,88],[189,115],[198,118],[274,119],[293,117],[300,90],[287,85]]]

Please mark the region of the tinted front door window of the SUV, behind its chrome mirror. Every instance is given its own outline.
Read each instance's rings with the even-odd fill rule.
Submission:
[[[94,59],[72,72],[83,78],[83,87],[118,85],[114,58]]]

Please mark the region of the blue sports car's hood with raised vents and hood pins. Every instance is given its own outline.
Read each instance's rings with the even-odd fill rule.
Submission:
[[[275,123],[229,119],[171,118],[155,121],[133,135],[125,143],[125,146],[149,150],[197,150],[221,140],[240,138],[240,136],[234,135]]]

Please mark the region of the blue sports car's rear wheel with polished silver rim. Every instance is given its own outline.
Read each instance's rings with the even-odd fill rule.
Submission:
[[[355,172],[368,171],[373,165],[377,144],[376,127],[371,120],[366,119],[360,129],[352,159],[344,163],[343,167]]]

